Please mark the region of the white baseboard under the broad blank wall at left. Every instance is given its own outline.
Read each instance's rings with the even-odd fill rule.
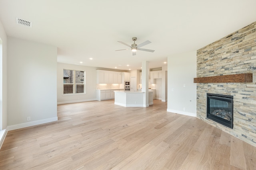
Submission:
[[[42,119],[42,120],[37,120],[37,121],[30,121],[28,123],[20,123],[17,125],[10,125],[10,126],[8,126],[8,131],[20,129],[20,128],[24,128],[24,127],[30,127],[30,126],[34,126],[34,125],[40,125],[43,123],[50,123],[50,122],[57,121],[57,120],[58,120],[58,117],[52,117],[49,119]]]

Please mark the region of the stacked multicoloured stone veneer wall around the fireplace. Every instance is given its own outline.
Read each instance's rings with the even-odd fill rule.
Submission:
[[[197,117],[256,146],[256,22],[197,51],[197,77],[253,73],[252,83],[197,83]],[[206,119],[206,93],[234,96],[234,127]]]

